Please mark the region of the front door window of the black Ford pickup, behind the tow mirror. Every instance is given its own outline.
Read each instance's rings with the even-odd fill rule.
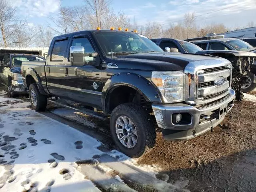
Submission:
[[[74,38],[71,46],[83,46],[85,53],[94,53],[95,52],[90,41],[85,37]],[[93,57],[89,57],[89,56],[84,57],[84,61],[86,61],[86,62],[90,62],[93,60],[95,60],[95,58],[93,58]]]

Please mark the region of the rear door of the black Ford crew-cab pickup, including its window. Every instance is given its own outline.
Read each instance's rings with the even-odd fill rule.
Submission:
[[[68,46],[68,37],[58,38],[53,42],[52,52],[46,59],[46,79],[49,92],[55,96],[64,96],[65,77],[64,68],[68,62],[66,49]]]

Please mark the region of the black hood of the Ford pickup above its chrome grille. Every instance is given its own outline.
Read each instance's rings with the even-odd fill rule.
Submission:
[[[203,56],[196,54],[181,54],[181,53],[143,53],[130,54],[126,56],[117,56],[106,59],[106,62],[113,63],[118,68],[129,68],[136,70],[184,70],[188,63],[205,60],[223,60],[214,56]]]

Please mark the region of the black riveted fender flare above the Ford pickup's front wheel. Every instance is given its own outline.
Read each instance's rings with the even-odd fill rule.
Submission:
[[[135,73],[118,73],[107,80],[103,89],[101,102],[103,111],[108,113],[111,92],[120,86],[128,86],[144,96],[147,102],[161,103],[161,94],[156,86],[148,79]]]

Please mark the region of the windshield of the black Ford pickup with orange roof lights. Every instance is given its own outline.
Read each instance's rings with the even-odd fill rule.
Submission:
[[[130,32],[94,32],[95,38],[106,56],[147,52],[164,52],[150,39]]]

